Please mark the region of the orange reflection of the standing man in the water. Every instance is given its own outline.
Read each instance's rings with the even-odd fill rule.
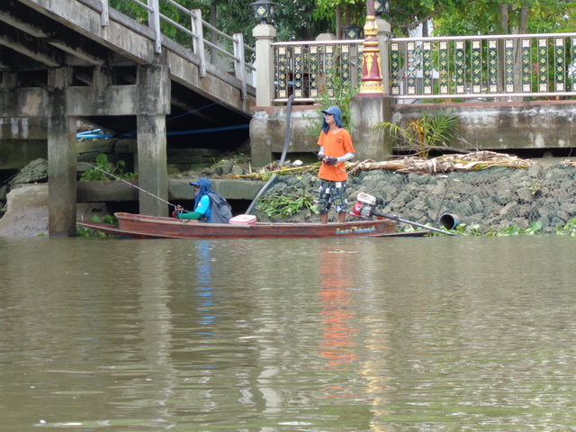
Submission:
[[[345,365],[356,359],[353,340],[355,329],[350,329],[352,318],[349,283],[346,276],[338,272],[346,268],[346,253],[322,251],[320,262],[320,304],[322,338],[320,355],[328,360],[329,366]]]

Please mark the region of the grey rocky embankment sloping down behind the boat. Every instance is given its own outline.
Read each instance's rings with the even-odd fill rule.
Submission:
[[[383,198],[383,212],[420,224],[438,226],[445,213],[477,232],[518,227],[535,222],[543,232],[554,232],[576,218],[576,167],[557,161],[553,165],[530,164],[526,168],[496,166],[472,172],[401,174],[387,169],[361,171],[347,182],[348,202],[359,192]],[[275,193],[317,194],[315,175],[279,175],[265,196]],[[259,220],[270,220],[258,211]],[[303,212],[289,221],[318,221]],[[336,220],[331,211],[330,220]]]

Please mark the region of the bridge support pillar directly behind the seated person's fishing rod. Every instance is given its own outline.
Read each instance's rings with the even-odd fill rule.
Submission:
[[[167,67],[140,66],[138,143],[139,212],[167,216],[166,114],[170,112],[170,76]],[[163,202],[164,200],[165,202]]]

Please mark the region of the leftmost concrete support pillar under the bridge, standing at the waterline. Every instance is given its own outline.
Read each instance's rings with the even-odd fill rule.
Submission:
[[[48,231],[49,237],[76,236],[76,120],[67,116],[69,67],[49,69]]]

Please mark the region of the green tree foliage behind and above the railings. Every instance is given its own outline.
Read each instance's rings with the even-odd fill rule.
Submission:
[[[186,9],[202,10],[204,21],[227,34],[241,32],[247,43],[252,44],[252,30],[257,24],[250,6],[253,1],[177,0],[177,3]],[[189,26],[188,16],[163,0],[160,4],[162,14]],[[349,23],[365,24],[364,0],[276,0],[275,4],[273,24],[277,40],[314,40],[321,32],[339,34]],[[397,36],[407,36],[420,23],[430,20],[436,35],[558,32],[572,31],[576,25],[576,14],[572,12],[576,10],[576,0],[391,0],[391,4],[391,13],[383,18],[391,23]],[[132,0],[110,0],[110,5],[141,23],[148,20],[148,12]],[[174,27],[164,23],[163,31],[178,39]],[[188,42],[182,35],[180,38],[178,41],[189,44],[189,38]]]

